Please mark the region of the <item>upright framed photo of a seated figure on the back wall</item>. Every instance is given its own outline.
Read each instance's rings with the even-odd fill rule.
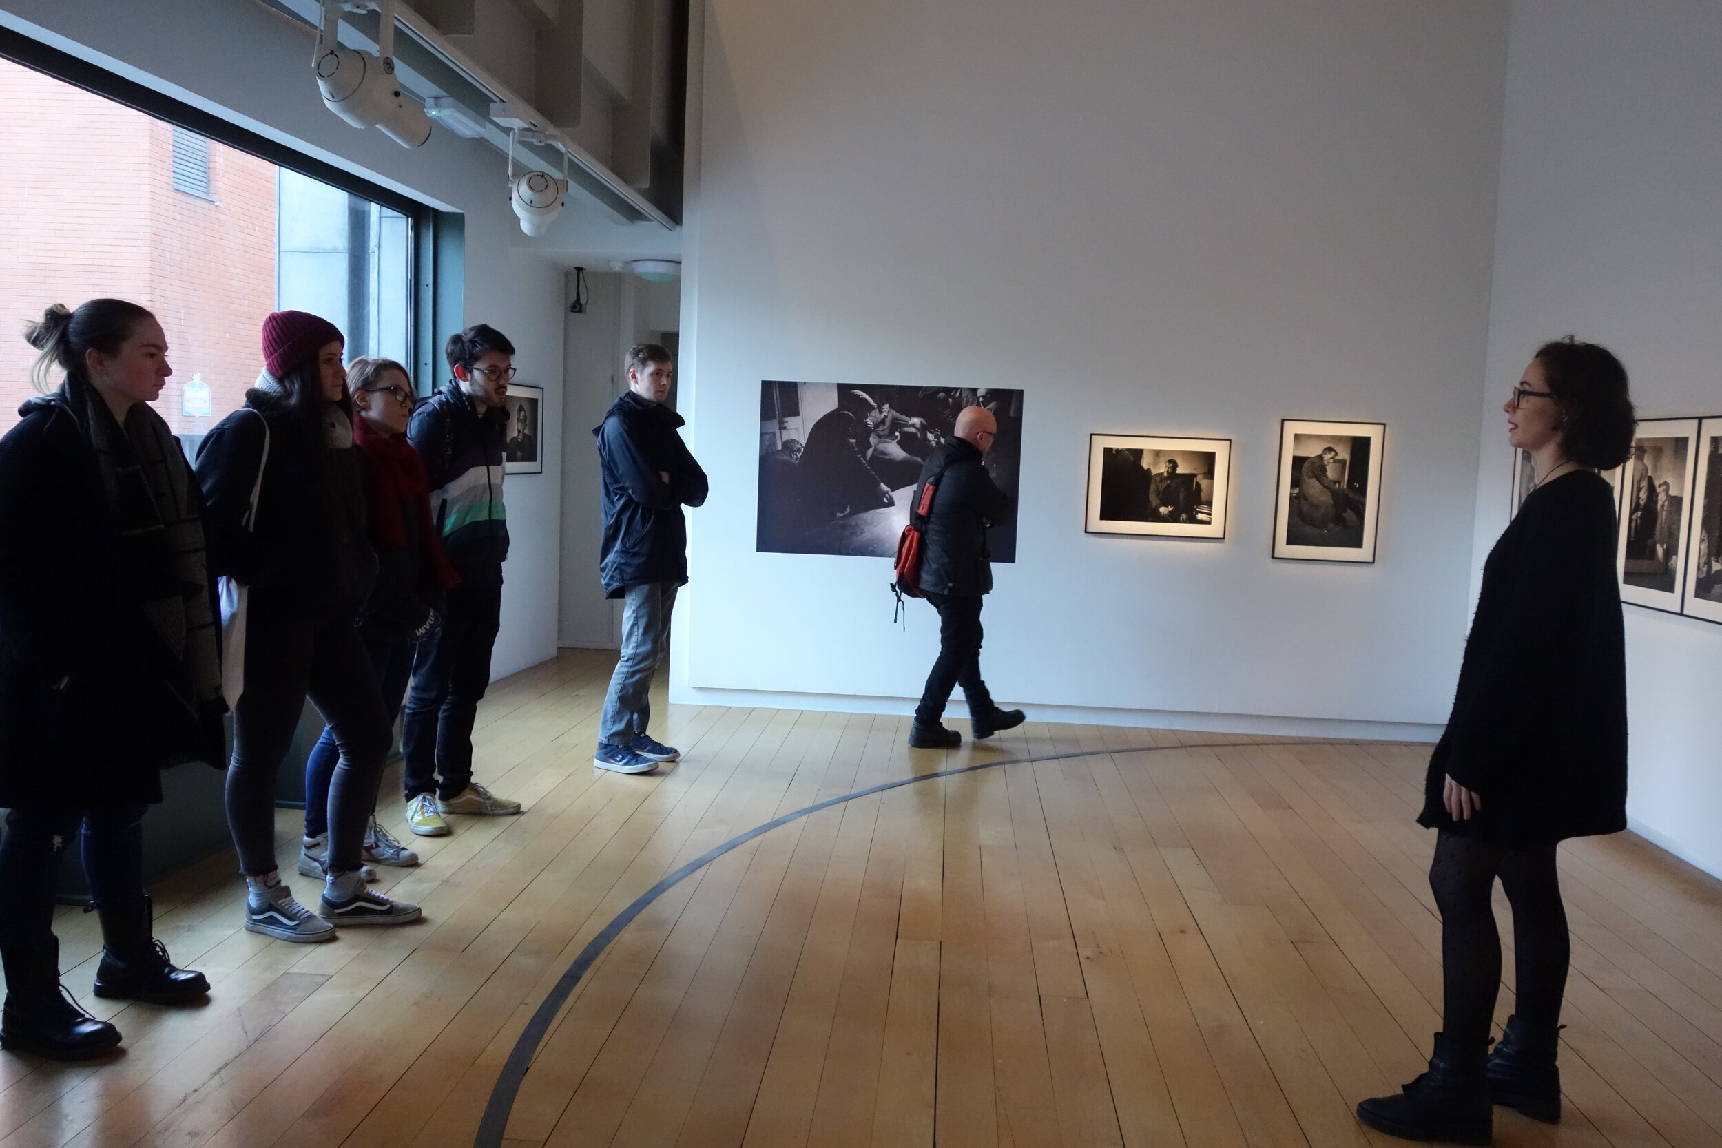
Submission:
[[[1376,561],[1386,437],[1376,422],[1279,423],[1274,558]]]

